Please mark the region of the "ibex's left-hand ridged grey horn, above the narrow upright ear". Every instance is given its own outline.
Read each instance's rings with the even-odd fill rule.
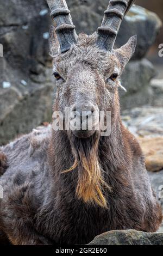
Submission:
[[[65,0],[47,0],[47,4],[51,10],[51,17],[54,20],[55,32],[58,36],[61,53],[66,52],[78,40],[70,10],[68,10]]]

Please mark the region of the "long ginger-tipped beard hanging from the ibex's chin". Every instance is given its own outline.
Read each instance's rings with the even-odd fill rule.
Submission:
[[[75,160],[73,166],[64,172],[78,171],[77,197],[84,203],[107,208],[104,191],[111,188],[104,181],[104,171],[98,159],[99,133],[95,132],[87,139],[78,139],[72,133],[68,137]]]

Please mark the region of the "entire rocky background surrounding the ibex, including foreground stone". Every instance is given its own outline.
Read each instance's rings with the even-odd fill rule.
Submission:
[[[90,34],[96,31],[108,2],[67,0],[77,32]],[[145,7],[148,7],[147,2],[149,9],[158,10],[163,17],[162,0],[137,0]],[[51,24],[45,0],[0,0],[0,44],[4,49],[3,57],[0,57],[0,146],[52,119],[55,83],[48,55]],[[146,167],[163,210],[163,79],[156,77],[157,70],[147,59],[155,41],[155,51],[158,51],[162,36],[157,39],[156,36],[161,26],[155,13],[136,5],[122,23],[116,47],[137,34],[136,52],[122,76],[123,86],[127,89],[127,93],[120,91],[122,117],[141,143]],[[163,66],[163,58],[159,58],[159,62]],[[160,65],[156,68],[160,70],[159,77],[163,78]],[[163,225],[159,231],[163,232]],[[123,242],[120,237],[124,237]],[[143,244],[144,241],[156,243],[155,234],[144,235],[136,231],[106,233],[99,240],[104,244],[111,241],[141,243],[141,237]],[[95,241],[97,244],[97,239]],[[161,235],[158,241],[162,241]]]

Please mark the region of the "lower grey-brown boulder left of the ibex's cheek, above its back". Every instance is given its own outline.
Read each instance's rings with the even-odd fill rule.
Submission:
[[[52,119],[52,84],[30,82],[26,88],[0,89],[0,145]]]

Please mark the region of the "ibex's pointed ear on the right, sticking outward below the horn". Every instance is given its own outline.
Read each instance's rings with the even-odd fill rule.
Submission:
[[[137,35],[132,36],[126,45],[123,45],[121,48],[115,50],[116,57],[120,60],[122,70],[125,68],[126,64],[129,62],[130,58],[135,52],[137,44]]]

